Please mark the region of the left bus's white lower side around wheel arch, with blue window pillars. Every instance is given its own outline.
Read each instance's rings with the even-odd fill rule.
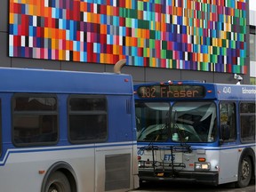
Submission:
[[[12,93],[0,94],[2,99],[3,152],[0,156],[0,191],[40,191],[45,173],[52,164],[66,162],[76,172],[77,192],[94,191],[94,144],[69,145],[67,142],[67,95],[58,96],[60,104],[59,146],[15,148],[12,145]],[[64,111],[64,112],[63,112]],[[67,156],[68,154],[68,156]],[[86,165],[85,165],[86,164]],[[39,171],[44,171],[39,174]],[[90,172],[90,174],[88,174]],[[12,176],[12,180],[10,180]]]

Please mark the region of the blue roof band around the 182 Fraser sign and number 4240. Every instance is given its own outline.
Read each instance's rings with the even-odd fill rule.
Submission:
[[[203,86],[204,87],[204,97],[202,96],[201,98],[198,97],[190,97],[191,94],[189,94],[189,97],[184,96],[186,91],[176,91],[177,97],[172,94],[172,98],[168,98],[168,96],[164,95],[163,98],[157,97],[159,100],[199,100],[199,99],[204,99],[204,100],[256,100],[256,86],[255,85],[249,85],[249,84],[214,84],[214,83],[203,83],[203,82],[198,82],[198,81],[173,81],[173,82],[166,82],[166,83],[148,83],[148,84],[135,84],[134,85],[134,92],[135,94],[135,99],[137,100],[156,100],[154,97],[147,97],[147,95],[142,98],[138,94],[140,91],[140,87],[150,87],[154,85],[159,85],[164,86],[164,85],[176,85],[176,88],[171,90],[172,88],[167,88],[167,91],[164,90],[164,93],[166,92],[175,92],[175,89],[177,90],[177,86],[180,85],[191,85],[191,86],[197,86],[195,89],[198,88],[198,86]],[[188,89],[188,87],[184,86],[183,89]],[[171,90],[171,91],[170,91]],[[150,92],[150,91],[149,91]],[[153,91],[155,92],[155,91]],[[150,92],[153,94],[153,92]],[[185,93],[184,93],[185,92]],[[148,94],[150,94],[148,93]],[[163,93],[163,94],[164,94]],[[189,92],[190,93],[190,92]],[[141,92],[140,92],[141,94]],[[161,94],[161,93],[160,93]],[[184,97],[180,97],[179,94],[182,94]],[[159,95],[159,91],[158,91]],[[200,95],[201,96],[201,95]]]

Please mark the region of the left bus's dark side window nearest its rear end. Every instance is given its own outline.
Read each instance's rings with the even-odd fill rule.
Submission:
[[[71,142],[100,142],[107,139],[107,100],[104,96],[72,96],[68,106]]]

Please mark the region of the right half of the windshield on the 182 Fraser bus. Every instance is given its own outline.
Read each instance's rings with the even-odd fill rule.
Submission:
[[[213,142],[216,140],[216,106],[213,102],[176,102],[172,107],[172,140]],[[175,140],[175,137],[174,137]]]

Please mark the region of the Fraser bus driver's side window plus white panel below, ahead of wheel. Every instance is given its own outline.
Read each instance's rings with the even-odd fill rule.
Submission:
[[[236,105],[220,102],[220,175],[219,184],[237,180]]]

